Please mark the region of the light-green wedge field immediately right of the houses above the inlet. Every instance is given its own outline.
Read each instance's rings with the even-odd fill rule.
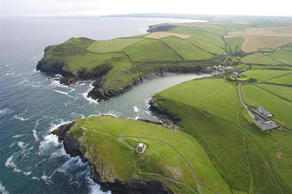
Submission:
[[[264,81],[270,78],[288,74],[292,71],[281,71],[281,70],[247,70],[241,74],[246,75],[248,78],[255,78],[258,81]]]

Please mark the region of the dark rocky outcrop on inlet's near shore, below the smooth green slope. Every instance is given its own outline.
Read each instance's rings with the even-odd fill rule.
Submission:
[[[164,123],[175,123],[178,124],[180,120],[178,120],[175,116],[170,114],[166,109],[159,106],[154,100],[150,99],[148,101],[150,104],[149,110],[151,111],[150,114],[156,116],[159,120]]]

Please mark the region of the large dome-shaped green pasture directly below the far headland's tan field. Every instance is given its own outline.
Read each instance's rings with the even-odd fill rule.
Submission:
[[[181,58],[163,42],[146,39],[123,50],[133,61],[177,61]]]

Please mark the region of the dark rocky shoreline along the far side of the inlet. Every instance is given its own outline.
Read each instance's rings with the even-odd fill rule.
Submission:
[[[106,88],[103,83],[105,80],[105,75],[110,71],[111,67],[96,67],[100,69],[93,70],[90,74],[87,74],[85,68],[78,70],[77,75],[72,74],[70,71],[64,71],[62,68],[64,64],[60,61],[54,61],[47,68],[47,64],[50,63],[51,59],[40,60],[36,66],[36,71],[41,71],[48,74],[60,74],[62,78],[56,78],[54,80],[60,81],[63,85],[73,85],[78,81],[93,81],[92,85],[94,88],[88,92],[87,97],[98,100],[109,100],[113,97],[119,96],[124,92],[130,91],[135,85],[143,83],[151,78],[169,76],[178,73],[198,73],[198,74],[212,74],[213,71],[202,69],[200,71],[188,70],[182,71],[180,69],[169,69],[168,71],[151,72],[148,74],[143,74],[142,76],[135,78],[132,83],[127,83],[121,88]]]

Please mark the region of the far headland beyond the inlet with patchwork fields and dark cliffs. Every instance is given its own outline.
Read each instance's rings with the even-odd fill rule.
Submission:
[[[69,75],[62,81],[68,85],[78,79],[97,80],[90,96],[110,99],[153,77],[151,74],[211,74],[206,67],[222,65],[227,55],[225,67],[292,69],[292,47],[287,45],[292,42],[291,27],[258,20],[165,23],[151,26],[151,33],[127,38],[72,38],[47,47],[37,70]]]

